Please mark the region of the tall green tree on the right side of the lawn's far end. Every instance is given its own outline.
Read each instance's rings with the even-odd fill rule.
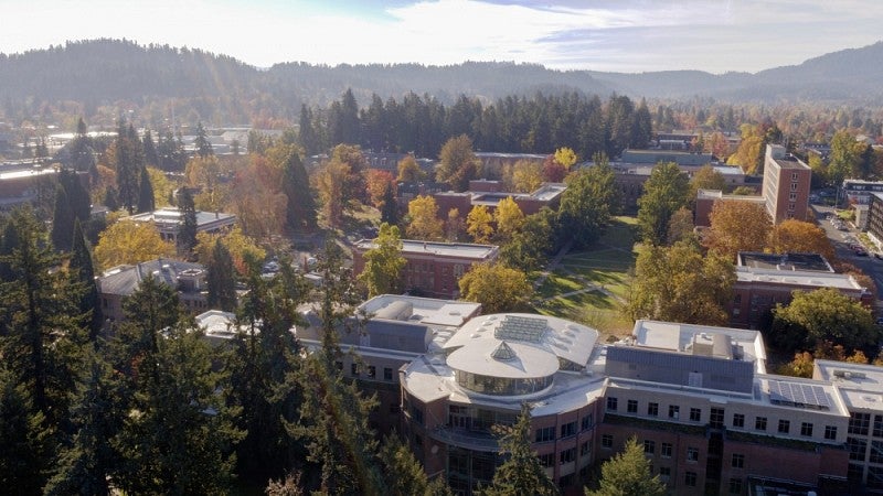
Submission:
[[[690,202],[690,183],[678,164],[662,162],[653,168],[643,183],[643,194],[638,198],[638,226],[643,240],[664,245],[669,220],[678,209]]]

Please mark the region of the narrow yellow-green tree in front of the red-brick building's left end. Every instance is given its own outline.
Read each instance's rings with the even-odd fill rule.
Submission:
[[[365,267],[359,280],[368,287],[368,298],[398,292],[405,257],[397,226],[381,224],[373,248],[364,254]]]

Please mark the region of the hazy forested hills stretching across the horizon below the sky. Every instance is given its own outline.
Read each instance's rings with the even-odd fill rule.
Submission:
[[[204,119],[236,121],[270,114],[291,119],[300,104],[325,107],[352,88],[361,105],[408,91],[443,104],[459,95],[493,101],[509,95],[579,91],[632,98],[713,97],[732,103],[825,100],[866,105],[883,95],[883,42],[756,74],[698,71],[643,74],[552,71],[536,64],[466,62],[453,66],[277,64],[259,69],[225,55],[168,45],[95,40],[23,54],[0,54],[0,103],[7,114],[42,103],[120,101],[143,107],[174,98]],[[178,105],[178,104],[175,104]],[[26,106],[23,108],[22,106]]]

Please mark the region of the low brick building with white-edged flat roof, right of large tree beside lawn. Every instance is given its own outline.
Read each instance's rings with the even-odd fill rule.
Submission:
[[[817,254],[760,254],[742,251],[736,257],[736,282],[730,306],[730,325],[757,328],[777,303],[787,305],[794,291],[836,288],[841,293],[873,304],[873,294],[854,277],[837,273]]]

